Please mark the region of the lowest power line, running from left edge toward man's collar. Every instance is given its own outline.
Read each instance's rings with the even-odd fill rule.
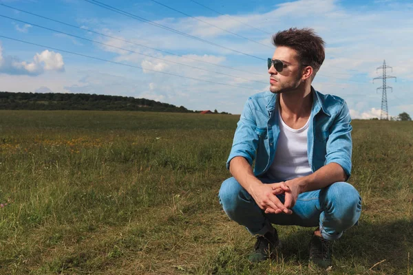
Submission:
[[[56,47],[49,47],[49,46],[45,46],[45,45],[41,45],[41,44],[37,44],[37,43],[32,43],[32,42],[28,42],[28,41],[23,41],[23,40],[20,40],[20,39],[13,39],[13,38],[8,37],[8,36],[0,35],[0,37],[2,37],[3,39],[10,39],[10,40],[18,41],[18,42],[25,43],[25,44],[35,45],[35,46],[38,46],[38,47],[45,47],[45,48],[47,48],[47,49],[56,50],[56,51],[59,51],[59,52],[65,52],[65,53],[67,53],[67,54],[74,54],[74,55],[76,55],[76,56],[83,56],[83,57],[95,59],[95,60],[98,60],[98,61],[105,61],[105,62],[108,62],[108,63],[113,63],[113,64],[116,64],[116,65],[123,65],[123,66],[132,67],[132,68],[136,68],[136,69],[144,69],[144,68],[142,68],[142,67],[140,67],[140,66],[129,65],[129,64],[125,64],[125,63],[116,62],[116,61],[109,61],[109,60],[107,60],[107,59],[103,59],[103,58],[96,57],[96,56],[88,56],[88,55],[86,55],[86,54],[78,54],[77,52],[70,52],[70,51],[58,49],[58,48],[56,48]],[[218,84],[218,85],[237,87],[237,88],[241,88],[241,89],[250,89],[250,90],[252,89],[252,88],[248,88],[248,87],[242,87],[242,86],[231,85],[231,84],[226,84],[226,83],[219,83],[219,82],[215,82],[215,81],[211,81],[211,80],[204,80],[204,79],[200,79],[200,78],[193,78],[193,77],[191,77],[191,76],[181,76],[181,75],[179,75],[179,74],[171,74],[171,73],[167,73],[167,72],[158,72],[158,71],[156,71],[156,70],[154,70],[154,69],[145,69],[145,70],[151,71],[151,72],[156,72],[156,73],[159,73],[159,74],[167,74],[167,75],[169,75],[169,76],[178,76],[178,77],[180,77],[180,78],[188,78],[188,79],[191,79],[191,80],[198,80],[198,81],[203,81],[203,82],[213,83],[213,84]]]

